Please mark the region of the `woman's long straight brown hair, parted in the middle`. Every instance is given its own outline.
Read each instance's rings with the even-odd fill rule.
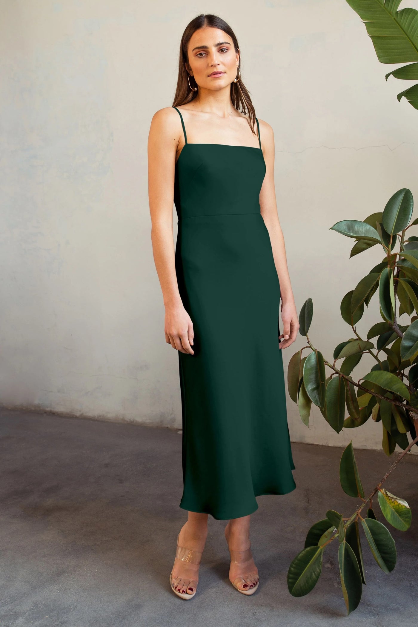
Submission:
[[[239,46],[235,33],[231,26],[229,26],[229,24],[227,24],[222,18],[219,18],[217,15],[212,15],[211,13],[207,13],[206,15],[201,13],[196,18],[192,19],[192,21],[185,27],[180,41],[179,77],[177,78],[177,87],[175,89],[172,105],[173,107],[185,105],[194,100],[197,96],[197,92],[194,92],[189,87],[189,72],[185,67],[185,63],[189,62],[187,48],[189,47],[191,36],[195,31],[197,31],[197,29],[202,28],[203,26],[211,26],[212,28],[219,28],[221,31],[224,31],[224,33],[231,37],[235,51],[238,52]],[[241,74],[241,54],[239,55],[239,73]],[[256,112],[242,78],[239,78],[236,83],[231,83],[231,101],[238,111],[241,110],[244,115],[248,114],[248,124],[255,135],[256,132],[254,130],[254,124],[256,121]]]

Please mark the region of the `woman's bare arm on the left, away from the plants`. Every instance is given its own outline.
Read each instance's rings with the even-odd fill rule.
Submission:
[[[152,252],[165,306],[165,341],[180,352],[194,354],[193,324],[180,298],[174,261],[174,167],[180,132],[174,108],[154,114],[148,138],[148,193]]]

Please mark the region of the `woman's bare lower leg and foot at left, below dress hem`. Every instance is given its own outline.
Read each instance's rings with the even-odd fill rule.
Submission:
[[[194,551],[203,551],[207,536],[207,516],[207,514],[189,512],[187,522],[180,529],[180,546]],[[199,581],[199,564],[189,564],[189,562],[175,558],[172,572],[175,589],[181,593],[193,594],[195,587],[189,586],[191,579]]]

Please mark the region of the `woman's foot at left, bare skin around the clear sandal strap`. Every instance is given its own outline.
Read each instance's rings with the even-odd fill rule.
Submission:
[[[190,530],[185,522],[180,529],[179,546],[202,552],[206,536],[207,528]],[[199,566],[200,564],[191,564],[175,557],[171,576],[172,586],[182,594],[194,594],[199,581]]]

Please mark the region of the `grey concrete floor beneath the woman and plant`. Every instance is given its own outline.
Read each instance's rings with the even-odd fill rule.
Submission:
[[[5,410],[0,427],[2,627],[417,622],[417,456],[402,461],[387,481],[413,512],[409,531],[390,529],[397,566],[384,574],[363,538],[367,586],[347,617],[335,542],[310,594],[293,598],[286,584],[310,525],[328,508],[346,516],[355,508],[357,500],[338,482],[342,449],[294,443],[296,490],[258,497],[251,542],[261,583],[253,596],[231,586],[226,522],[209,517],[199,587],[194,599],[183,601],[169,587],[175,539],[187,517],[179,507],[176,430]],[[394,456],[388,460],[380,451],[365,450],[356,456],[368,493]]]

